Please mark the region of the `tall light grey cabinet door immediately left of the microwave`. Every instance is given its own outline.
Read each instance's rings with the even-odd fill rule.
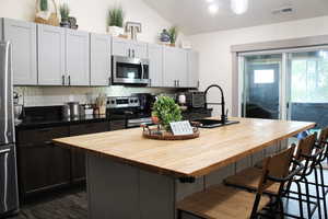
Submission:
[[[110,85],[110,36],[90,35],[91,85]]]

